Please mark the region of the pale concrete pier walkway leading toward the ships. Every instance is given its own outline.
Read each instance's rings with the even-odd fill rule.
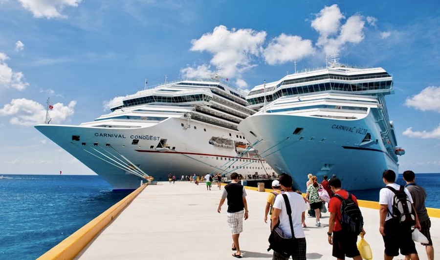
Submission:
[[[205,183],[196,185],[181,181],[149,185],[75,259],[235,259],[231,256],[234,251],[226,223],[226,203],[221,214],[217,213],[222,190],[216,183],[211,189],[207,191]],[[243,258],[272,259],[272,251],[266,251],[269,224],[264,223],[264,206],[267,193],[257,192],[256,188],[246,192],[249,219],[244,221],[240,236]],[[373,259],[383,259],[379,212],[366,207],[361,210],[367,232],[365,240],[371,245]],[[307,259],[334,259],[327,241],[328,220],[329,213],[323,214],[323,225],[316,227],[315,219],[306,217]],[[437,232],[440,219],[431,218],[431,221],[436,258],[440,258]],[[419,243],[416,246],[420,259],[427,259],[424,246]],[[403,256],[395,259],[403,259]]]

